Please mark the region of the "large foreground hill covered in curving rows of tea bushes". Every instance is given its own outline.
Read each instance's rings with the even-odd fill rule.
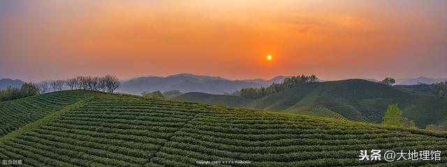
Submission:
[[[102,94],[0,138],[0,159],[25,166],[447,165],[358,160],[360,150],[372,149],[441,150],[444,157],[447,133]],[[250,164],[196,164],[237,160]]]

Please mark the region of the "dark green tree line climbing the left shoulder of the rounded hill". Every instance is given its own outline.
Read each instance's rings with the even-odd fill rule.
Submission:
[[[286,78],[282,83],[272,83],[268,87],[261,88],[244,88],[240,92],[233,92],[233,94],[240,94],[240,96],[249,99],[259,99],[263,96],[268,96],[276,92],[281,92],[284,89],[289,89],[291,87],[296,87],[298,85],[304,85],[309,83],[318,82],[316,75],[298,75],[291,78]]]

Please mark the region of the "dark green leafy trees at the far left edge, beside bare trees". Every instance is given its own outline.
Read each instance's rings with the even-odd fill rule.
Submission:
[[[0,101],[10,101],[36,94],[38,94],[36,85],[32,82],[25,82],[20,88],[8,87],[0,90]]]

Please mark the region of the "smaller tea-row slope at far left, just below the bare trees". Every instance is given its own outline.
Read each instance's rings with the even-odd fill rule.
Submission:
[[[1,102],[0,137],[91,95],[82,90],[62,91]]]

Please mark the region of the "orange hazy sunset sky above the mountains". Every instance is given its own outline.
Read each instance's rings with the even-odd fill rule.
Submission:
[[[447,78],[445,6],[444,0],[2,0],[0,78]]]

